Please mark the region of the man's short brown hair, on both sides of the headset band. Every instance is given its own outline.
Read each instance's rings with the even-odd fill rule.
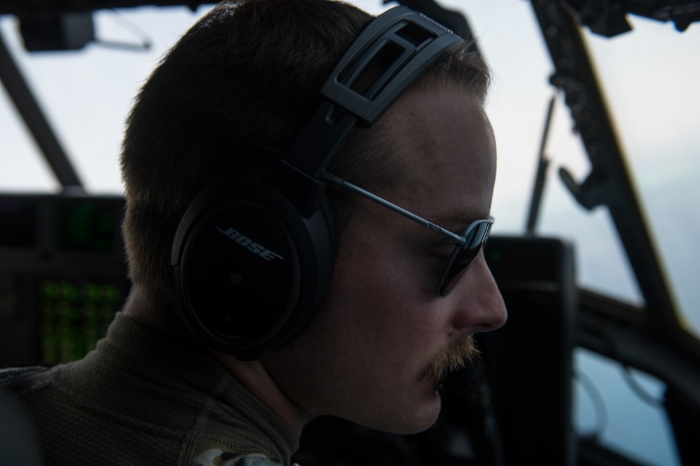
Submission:
[[[178,305],[169,253],[197,193],[262,149],[284,150],[318,106],[325,78],[370,20],[339,1],[223,2],[162,59],[127,121],[121,161],[130,274],[149,302]],[[465,50],[444,57],[419,86],[454,81],[484,99],[488,71]],[[391,151],[391,131],[382,120],[356,131],[329,171],[365,188],[393,183],[402,164]],[[342,190],[328,190],[328,197],[342,241],[357,199]]]

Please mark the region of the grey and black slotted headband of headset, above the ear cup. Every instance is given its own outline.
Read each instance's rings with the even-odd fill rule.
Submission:
[[[323,196],[321,173],[353,128],[374,125],[444,50],[461,42],[463,39],[446,27],[405,6],[377,16],[325,81],[321,105],[267,184],[309,218]],[[366,83],[367,78],[373,79]]]

